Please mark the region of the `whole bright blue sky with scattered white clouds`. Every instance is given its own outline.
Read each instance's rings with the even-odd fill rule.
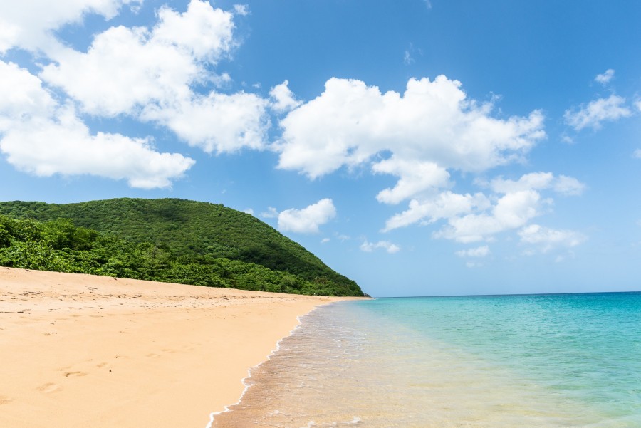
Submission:
[[[641,2],[0,2],[0,200],[248,212],[372,296],[641,291]]]

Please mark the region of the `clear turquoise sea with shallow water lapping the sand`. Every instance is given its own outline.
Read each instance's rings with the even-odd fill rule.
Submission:
[[[641,427],[641,293],[320,306],[214,428]]]

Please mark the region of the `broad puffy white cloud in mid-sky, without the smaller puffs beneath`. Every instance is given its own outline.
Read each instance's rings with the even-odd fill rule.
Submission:
[[[331,78],[281,120],[278,166],[313,179],[389,152],[395,162],[479,172],[521,158],[545,136],[540,112],[501,120],[491,107],[467,100],[461,83],[444,75],[410,79],[403,94]]]

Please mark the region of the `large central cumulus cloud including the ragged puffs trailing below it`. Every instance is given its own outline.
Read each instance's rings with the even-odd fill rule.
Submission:
[[[322,94],[280,121],[278,167],[298,170],[311,179],[342,167],[370,167],[375,174],[397,177],[393,187],[378,192],[379,202],[409,200],[409,208],[388,219],[383,231],[447,219],[448,228],[439,236],[486,239],[538,215],[534,206],[539,194],[511,192],[488,212],[492,203],[484,194],[447,190],[453,185],[451,171],[478,173],[522,160],[545,137],[538,110],[511,118],[496,118],[492,110],[492,103],[469,100],[461,83],[444,75],[434,80],[412,78],[404,93],[381,93],[360,80],[332,78]],[[543,179],[547,187],[557,183],[563,192],[579,192],[578,182]],[[530,201],[526,212],[512,207],[518,221],[510,219],[504,206],[524,194],[536,203]],[[481,232],[473,233],[481,224]]]

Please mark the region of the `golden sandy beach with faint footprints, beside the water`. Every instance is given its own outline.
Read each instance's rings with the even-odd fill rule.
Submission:
[[[335,300],[0,268],[0,427],[204,428]]]

